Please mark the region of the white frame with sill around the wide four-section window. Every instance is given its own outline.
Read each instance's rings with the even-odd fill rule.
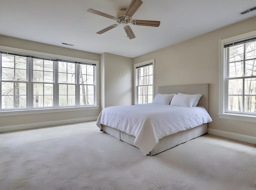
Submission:
[[[24,53],[27,55],[31,55],[34,57],[49,57],[54,59],[60,59],[60,60],[67,60],[67,61],[77,61],[77,62],[84,62],[84,63],[92,63],[96,65],[96,89],[94,92],[95,94],[95,105],[93,106],[79,106],[79,107],[64,107],[64,108],[40,108],[40,109],[33,109],[33,110],[4,110],[0,111],[0,116],[13,116],[13,115],[26,115],[26,114],[41,114],[41,113],[52,113],[52,112],[69,112],[69,111],[82,111],[82,110],[96,110],[99,109],[99,69],[98,69],[98,61],[89,60],[89,59],[81,59],[76,57],[69,57],[64,55],[55,55],[51,53],[43,53],[38,51],[31,51],[31,50],[25,50],[25,49],[19,49],[19,48],[13,48],[13,47],[6,47],[0,45],[0,51],[8,51],[12,53]]]

